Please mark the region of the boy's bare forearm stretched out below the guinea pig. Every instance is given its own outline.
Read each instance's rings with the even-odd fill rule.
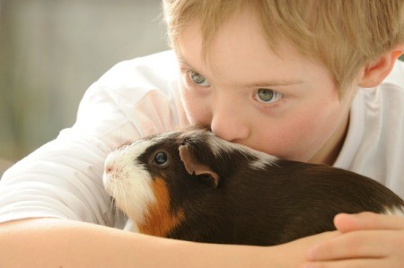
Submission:
[[[319,238],[272,247],[224,246],[80,221],[18,220],[0,225],[0,267],[297,267]]]

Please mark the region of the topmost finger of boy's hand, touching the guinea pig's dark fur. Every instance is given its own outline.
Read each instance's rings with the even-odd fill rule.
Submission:
[[[340,232],[359,229],[404,229],[404,217],[362,212],[358,214],[338,214],[334,225]]]

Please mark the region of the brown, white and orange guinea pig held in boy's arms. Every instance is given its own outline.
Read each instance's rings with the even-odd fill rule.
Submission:
[[[139,232],[219,244],[272,246],[335,229],[339,212],[404,209],[371,178],[282,160],[199,127],[111,152],[103,184]]]

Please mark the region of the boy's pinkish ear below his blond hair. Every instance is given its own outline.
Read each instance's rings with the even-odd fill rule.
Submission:
[[[373,88],[379,85],[391,72],[397,58],[404,53],[404,43],[391,49],[376,62],[365,65],[359,77],[358,85],[362,88]]]

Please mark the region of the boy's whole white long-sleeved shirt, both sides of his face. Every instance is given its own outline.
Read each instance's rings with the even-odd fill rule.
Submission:
[[[53,217],[116,225],[102,186],[103,162],[119,144],[186,125],[172,51],[115,65],[89,88],[77,120],[0,180],[0,222]],[[404,197],[404,63],[353,103],[335,166]]]

